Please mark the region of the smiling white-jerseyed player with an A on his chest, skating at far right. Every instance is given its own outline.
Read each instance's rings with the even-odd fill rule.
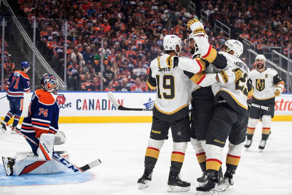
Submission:
[[[254,88],[253,103],[267,106],[270,111],[262,110],[256,107],[250,108],[250,119],[247,125],[247,141],[244,145],[248,149],[253,141],[253,134],[258,119],[263,123],[261,142],[258,146],[262,151],[270,135],[271,120],[274,117],[275,96],[280,96],[284,89],[284,81],[278,76],[273,68],[266,68],[266,58],[264,55],[255,57],[257,69],[250,72],[250,79]]]

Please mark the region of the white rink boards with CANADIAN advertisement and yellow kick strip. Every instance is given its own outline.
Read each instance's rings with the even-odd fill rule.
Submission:
[[[0,97],[5,96],[0,92]],[[22,118],[28,114],[32,92],[24,94]],[[114,92],[118,102],[129,108],[153,108],[154,92]],[[121,111],[109,101],[107,92],[59,92],[56,96],[60,108],[60,123],[119,123],[152,122],[151,111]],[[0,100],[0,117],[9,111],[7,98]],[[22,121],[21,118],[21,121]],[[276,97],[273,121],[292,121],[292,94]]]

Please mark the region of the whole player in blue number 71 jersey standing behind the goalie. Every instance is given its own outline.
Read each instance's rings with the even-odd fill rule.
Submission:
[[[23,61],[20,64],[20,70],[14,71],[6,84],[6,96],[9,100],[10,110],[5,116],[4,121],[8,122],[14,116],[12,127],[18,131],[20,131],[20,129],[16,126],[23,109],[23,92],[29,93],[31,91],[29,77],[26,74],[29,69],[29,63]],[[6,131],[6,126],[4,124],[1,124],[0,128],[3,132]],[[16,131],[11,131],[11,133],[16,133]]]

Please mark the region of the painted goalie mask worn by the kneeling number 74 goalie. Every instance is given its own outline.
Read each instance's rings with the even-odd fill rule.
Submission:
[[[41,79],[42,89],[46,92],[58,94],[59,83],[57,78],[53,74],[44,74]]]

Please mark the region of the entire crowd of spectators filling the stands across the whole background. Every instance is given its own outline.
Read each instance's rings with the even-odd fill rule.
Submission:
[[[209,15],[209,20],[202,21],[209,42],[219,51],[221,43],[240,35],[258,49],[261,45],[287,47],[292,39],[292,17],[291,12],[282,8],[291,5],[282,0],[268,2],[201,1],[199,9]],[[37,41],[43,54],[60,76],[66,65],[67,89],[76,91],[152,91],[146,84],[147,74],[150,62],[163,53],[164,36],[176,34],[185,42],[190,32],[186,28],[188,20],[198,18],[180,2],[176,2],[171,16],[173,0],[18,0],[18,4],[22,16],[28,18],[28,26],[34,20],[38,22]],[[223,31],[215,35],[215,19],[231,28],[231,37],[226,37]],[[186,45],[181,55],[191,57]]]

